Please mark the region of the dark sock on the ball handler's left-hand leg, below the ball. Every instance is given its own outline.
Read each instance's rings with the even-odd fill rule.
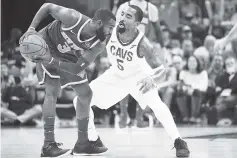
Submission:
[[[54,121],[55,117],[44,117],[44,146],[55,142],[54,138]]]

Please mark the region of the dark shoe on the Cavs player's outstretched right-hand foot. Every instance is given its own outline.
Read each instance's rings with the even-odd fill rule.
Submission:
[[[174,147],[176,149],[177,157],[189,157],[190,151],[188,149],[187,143],[184,140],[180,138],[175,139]]]

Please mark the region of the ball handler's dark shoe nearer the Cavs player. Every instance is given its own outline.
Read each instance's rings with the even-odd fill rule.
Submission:
[[[99,141],[98,141],[99,142]],[[91,141],[86,141],[83,144],[76,143],[72,155],[100,155],[108,150],[108,148],[105,147],[98,147],[98,144],[95,144]]]

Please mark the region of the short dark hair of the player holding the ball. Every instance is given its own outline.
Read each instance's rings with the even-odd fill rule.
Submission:
[[[93,18],[93,20],[101,20],[103,23],[108,23],[111,19],[116,21],[115,15],[108,9],[98,9]]]

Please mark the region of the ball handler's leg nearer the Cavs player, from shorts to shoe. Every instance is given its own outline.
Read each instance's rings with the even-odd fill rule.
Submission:
[[[107,150],[105,147],[95,146],[88,141],[88,121],[92,92],[88,84],[86,72],[73,75],[59,70],[61,88],[72,86],[76,92],[76,117],[78,122],[78,140],[74,146],[74,155],[99,154]]]

